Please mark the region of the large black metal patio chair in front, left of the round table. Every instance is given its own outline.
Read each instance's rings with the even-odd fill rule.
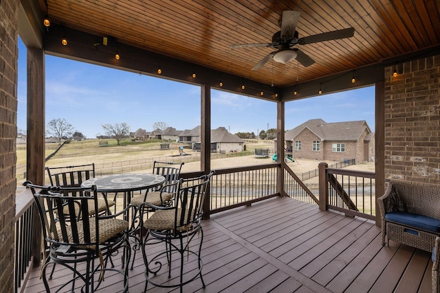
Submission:
[[[96,186],[91,189],[42,187],[30,181],[23,185],[32,190],[41,219],[44,238],[41,277],[46,292],[50,292],[46,270],[51,265],[57,268],[63,266],[73,273],[72,279],[63,283],[56,292],[64,292],[68,284],[72,284],[72,292],[78,287],[81,292],[95,292],[104,281],[104,273],[109,270],[122,275],[123,288],[118,288],[118,291],[128,292],[129,223],[117,218],[124,211],[115,215],[96,213],[90,217],[91,209],[98,210]],[[68,213],[65,213],[66,209]],[[122,268],[107,266],[110,257],[118,253],[122,255]],[[82,281],[82,285],[76,281]]]

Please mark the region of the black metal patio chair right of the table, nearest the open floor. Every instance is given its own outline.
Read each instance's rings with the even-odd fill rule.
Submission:
[[[205,202],[206,194],[209,191],[210,177],[214,174],[211,172],[207,176],[198,178],[179,179],[177,184],[177,191],[175,200],[170,207],[158,207],[149,202],[144,202],[140,205],[141,219],[142,215],[150,209],[155,210],[151,217],[143,221],[141,230],[142,239],[142,256],[146,266],[145,276],[146,283],[144,292],[146,291],[148,283],[151,283],[161,288],[180,288],[183,291],[183,286],[200,277],[203,288],[205,283],[201,274],[203,263],[201,261],[201,245],[203,243],[203,229],[201,220],[203,217],[203,204]],[[146,235],[144,234],[146,231]],[[199,236],[198,248],[197,244],[190,246],[190,242]],[[153,257],[148,261],[148,245],[159,245],[164,242],[164,249],[153,253]],[[154,250],[156,251],[156,249]],[[171,278],[171,265],[173,263],[172,256],[179,255],[179,277],[177,282],[164,280],[163,278],[155,278],[154,276],[162,268],[162,263],[168,263],[168,279]],[[184,271],[185,259],[191,257],[192,260],[197,261],[198,269],[195,272],[186,274]],[[194,258],[194,259],[193,259]],[[188,260],[187,260],[188,261]],[[153,274],[153,276],[151,276]],[[189,276],[189,277],[185,277]],[[163,274],[162,274],[163,275]]]

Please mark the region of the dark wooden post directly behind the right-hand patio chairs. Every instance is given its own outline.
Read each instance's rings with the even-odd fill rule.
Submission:
[[[211,171],[211,88],[207,84],[201,86],[201,126],[200,126],[200,167],[203,174]],[[203,218],[210,218],[210,194],[206,191]]]

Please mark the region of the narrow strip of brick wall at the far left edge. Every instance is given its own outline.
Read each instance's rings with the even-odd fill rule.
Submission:
[[[0,288],[14,291],[15,139],[17,137],[17,0],[0,1]]]

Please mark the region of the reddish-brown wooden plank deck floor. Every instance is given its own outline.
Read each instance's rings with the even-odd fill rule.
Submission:
[[[430,253],[396,242],[382,246],[373,222],[291,198],[213,215],[203,231],[206,288],[196,279],[184,292],[432,292]],[[135,259],[131,293],[142,292],[145,283],[140,253]],[[69,278],[63,270],[56,274],[54,288]],[[106,274],[105,280],[99,292],[122,288],[118,276]],[[44,292],[39,268],[24,292]],[[168,290],[148,285],[148,292]]]

